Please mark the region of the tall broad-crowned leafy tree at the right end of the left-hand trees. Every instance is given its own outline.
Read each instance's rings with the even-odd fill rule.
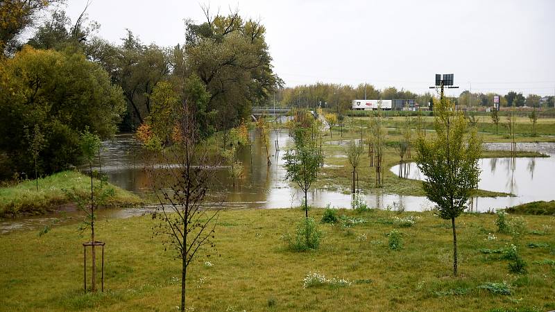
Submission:
[[[237,126],[250,107],[266,103],[282,82],[272,71],[259,21],[244,20],[237,12],[212,16],[203,24],[187,24],[187,71],[203,81],[210,101],[207,110],[218,114],[220,130]]]

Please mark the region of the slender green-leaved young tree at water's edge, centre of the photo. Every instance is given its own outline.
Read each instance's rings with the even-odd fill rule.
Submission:
[[[285,179],[296,182],[305,193],[305,216],[308,219],[307,193],[312,183],[318,178],[318,168],[323,162],[316,141],[309,138],[309,129],[293,129],[293,150],[286,150],[283,157],[287,175]]]

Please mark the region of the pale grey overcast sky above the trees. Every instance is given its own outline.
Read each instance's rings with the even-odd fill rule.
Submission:
[[[67,0],[75,19],[86,0]],[[274,70],[286,85],[373,84],[429,91],[454,73],[459,94],[555,92],[555,1],[185,1],[93,0],[89,19],[111,42],[129,28],[143,42],[185,41],[184,19],[200,6],[260,19]]]

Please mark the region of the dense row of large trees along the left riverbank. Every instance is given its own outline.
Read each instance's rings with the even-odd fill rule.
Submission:
[[[12,173],[79,164],[85,127],[106,139],[144,126],[158,143],[171,144],[167,122],[176,116],[169,106],[184,101],[198,105],[201,135],[228,130],[283,84],[273,73],[266,28],[239,12],[205,8],[205,21],[185,21],[175,46],[146,44],[130,30],[114,44],[97,35],[86,7],[71,19],[63,2],[0,2],[0,152]],[[33,35],[22,40],[30,28]],[[35,133],[43,143],[33,158]]]

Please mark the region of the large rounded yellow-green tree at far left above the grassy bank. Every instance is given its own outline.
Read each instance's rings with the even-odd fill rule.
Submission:
[[[121,88],[110,83],[98,64],[80,53],[29,46],[1,60],[0,107],[0,150],[14,170],[31,172],[31,142],[25,133],[37,125],[44,135],[44,173],[78,163],[78,133],[85,126],[109,137],[125,112]]]

